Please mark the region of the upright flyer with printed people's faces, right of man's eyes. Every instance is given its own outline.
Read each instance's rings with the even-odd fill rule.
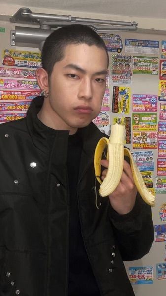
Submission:
[[[113,83],[131,84],[132,56],[113,54],[111,68]]]

